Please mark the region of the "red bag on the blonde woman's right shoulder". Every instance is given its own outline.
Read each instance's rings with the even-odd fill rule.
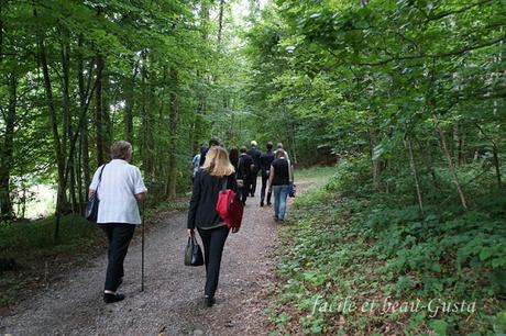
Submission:
[[[233,190],[227,189],[227,179],[223,181],[221,190],[218,192],[216,212],[218,212],[223,222],[227,223],[228,228],[241,227],[244,205],[235,197]]]

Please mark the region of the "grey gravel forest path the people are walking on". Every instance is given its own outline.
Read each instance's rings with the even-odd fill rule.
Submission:
[[[298,183],[300,191],[308,184]],[[120,289],[124,301],[105,304],[106,251],[48,290],[1,316],[0,334],[15,335],[266,335],[263,310],[273,290],[273,250],[280,224],[272,206],[260,208],[260,187],[248,199],[238,234],[223,251],[213,307],[204,306],[204,267],[183,265],[186,212],[170,214],[145,238],[145,289],[141,292],[141,239],[130,246]],[[289,204],[292,200],[289,199]],[[138,229],[135,235],[140,236]]]

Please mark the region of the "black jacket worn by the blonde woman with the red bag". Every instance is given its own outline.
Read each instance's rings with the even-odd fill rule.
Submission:
[[[224,178],[227,178],[227,189],[238,192],[235,175],[232,173]],[[210,228],[223,222],[216,212],[218,192],[221,190],[222,181],[223,178],[211,176],[206,170],[200,169],[197,172],[188,211],[188,228],[196,226]]]

